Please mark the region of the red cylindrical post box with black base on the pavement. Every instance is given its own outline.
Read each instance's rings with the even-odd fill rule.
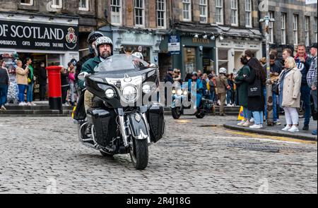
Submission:
[[[61,103],[61,66],[49,66],[49,109],[62,111]]]

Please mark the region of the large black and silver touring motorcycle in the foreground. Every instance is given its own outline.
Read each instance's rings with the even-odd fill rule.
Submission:
[[[145,98],[151,97],[159,85],[158,67],[119,54],[100,63],[95,74],[80,73],[78,79],[85,80],[85,90],[94,95],[86,118],[83,113],[74,118],[79,140],[105,157],[130,154],[136,169],[146,169],[148,147],[165,134],[164,107]],[[82,111],[83,97],[82,92],[77,106]],[[82,119],[78,119],[80,114]]]

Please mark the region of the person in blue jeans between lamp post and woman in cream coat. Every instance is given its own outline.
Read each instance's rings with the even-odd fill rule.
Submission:
[[[273,92],[273,123],[275,125],[281,125],[279,122],[279,103],[278,103],[278,80],[279,80],[279,75],[281,74],[281,71],[283,68],[280,65],[280,62],[277,62],[276,56],[273,54],[269,55],[269,63],[271,66],[271,71],[269,73],[270,79],[271,79],[271,84],[272,84],[272,92]]]

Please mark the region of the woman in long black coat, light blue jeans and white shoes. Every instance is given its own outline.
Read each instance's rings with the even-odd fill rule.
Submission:
[[[264,124],[264,86],[266,86],[266,74],[259,60],[253,57],[252,51],[245,51],[247,65],[250,68],[249,76],[244,75],[245,81],[249,82],[248,109],[252,111],[254,125],[249,128],[260,129]]]

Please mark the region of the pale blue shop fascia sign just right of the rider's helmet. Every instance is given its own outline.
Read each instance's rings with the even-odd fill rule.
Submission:
[[[122,44],[125,45],[143,45],[153,46],[154,39],[152,35],[124,33],[122,35]]]

